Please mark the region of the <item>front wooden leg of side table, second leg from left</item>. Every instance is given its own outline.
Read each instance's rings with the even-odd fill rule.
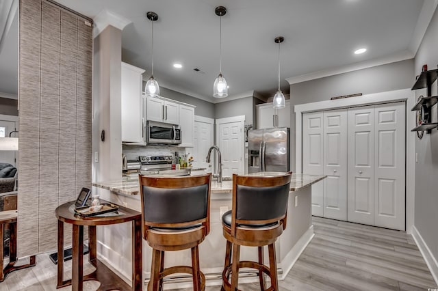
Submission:
[[[71,288],[82,291],[83,285],[83,225],[73,225]]]

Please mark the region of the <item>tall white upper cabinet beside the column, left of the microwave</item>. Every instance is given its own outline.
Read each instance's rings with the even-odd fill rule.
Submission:
[[[122,62],[122,141],[145,143],[142,73],[144,70]]]

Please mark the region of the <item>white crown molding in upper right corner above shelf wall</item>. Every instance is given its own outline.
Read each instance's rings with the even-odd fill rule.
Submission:
[[[432,20],[433,14],[437,9],[438,0],[424,0],[422,10],[417,19],[417,25],[413,31],[411,42],[409,43],[409,51],[413,55],[417,54],[418,48],[424,38],[424,34],[429,26],[430,20]]]

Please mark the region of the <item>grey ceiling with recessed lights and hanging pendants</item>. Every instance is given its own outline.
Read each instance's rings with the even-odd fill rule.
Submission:
[[[154,23],[154,77],[162,87],[209,102],[219,73],[220,19],[214,9],[227,8],[222,16],[222,74],[229,84],[229,97],[273,96],[278,85],[278,49],[281,44],[281,89],[315,72],[342,72],[342,68],[366,67],[415,56],[417,37],[427,3],[433,0],[56,0],[77,12],[95,18],[108,10],[127,18],[122,32],[122,59],[151,74],[151,21]],[[435,7],[434,7],[435,9]],[[421,13],[420,13],[421,12]],[[420,19],[420,21],[419,21]],[[17,21],[14,22],[17,25]],[[420,27],[421,28],[421,27]],[[424,28],[425,31],[426,27]],[[420,29],[421,30],[421,29]],[[423,33],[424,33],[423,31]],[[414,33],[415,32],[415,33]],[[421,33],[421,31],[420,31]],[[17,29],[8,40],[17,47]],[[12,39],[12,40],[11,40]],[[0,76],[14,71],[0,52]],[[355,55],[357,48],[367,48]],[[12,52],[13,55],[14,52]],[[16,51],[14,55],[16,59]],[[12,58],[13,59],[13,58]],[[174,62],[183,65],[172,67]],[[369,64],[369,65],[368,65]],[[3,68],[4,67],[4,68]],[[201,72],[193,69],[199,68]],[[322,75],[324,75],[322,74]],[[286,81],[286,79],[288,81]],[[0,92],[4,84],[0,83]],[[9,89],[10,90],[10,89]],[[16,89],[15,89],[16,92]],[[12,92],[11,92],[12,93]]]

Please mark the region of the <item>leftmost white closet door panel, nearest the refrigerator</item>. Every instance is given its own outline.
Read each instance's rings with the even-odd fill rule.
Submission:
[[[323,113],[302,115],[302,172],[324,174]],[[324,216],[324,181],[312,186],[312,215]]]

